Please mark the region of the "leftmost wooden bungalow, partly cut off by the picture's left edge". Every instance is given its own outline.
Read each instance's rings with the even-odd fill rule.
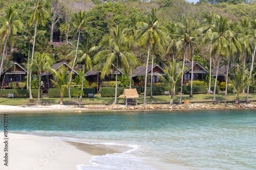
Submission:
[[[15,69],[14,66],[15,65]],[[7,70],[4,70],[1,72],[1,80],[0,80],[0,88],[3,85],[3,88],[8,88],[9,83],[15,82],[17,85],[19,82],[25,81],[25,76],[27,76],[27,70],[18,64],[17,62],[14,62],[12,65],[9,66]]]

